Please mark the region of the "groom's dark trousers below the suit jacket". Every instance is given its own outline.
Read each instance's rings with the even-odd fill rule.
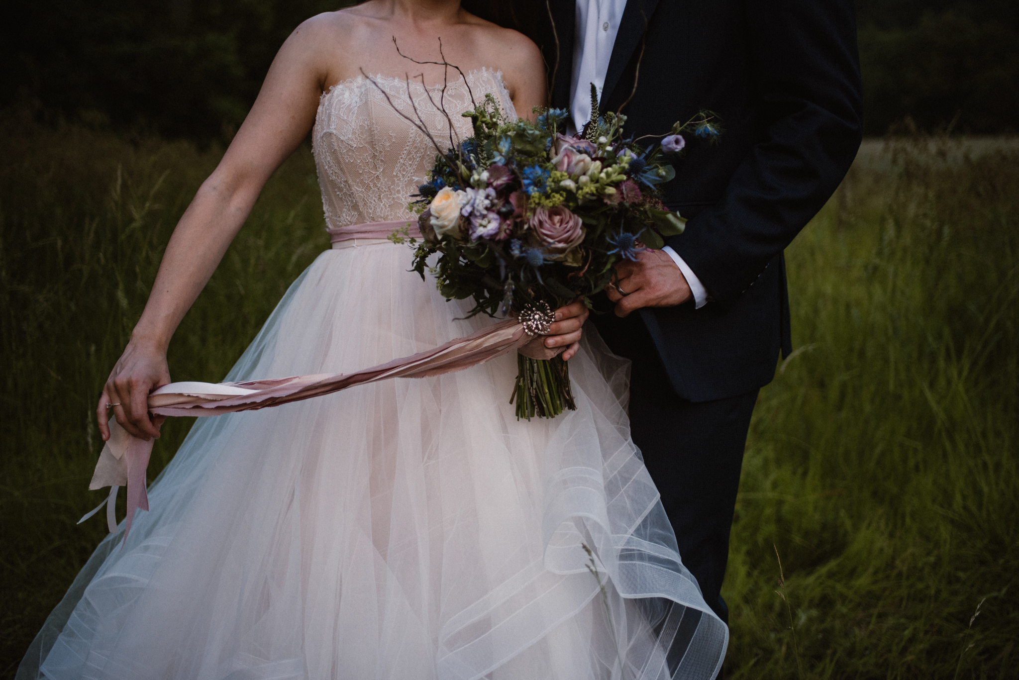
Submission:
[[[592,320],[612,353],[633,362],[630,426],[634,443],[661,493],[683,564],[697,579],[708,607],[729,623],[721,581],[758,390],[709,402],[683,399],[673,388],[638,314],[621,319],[609,311]]]

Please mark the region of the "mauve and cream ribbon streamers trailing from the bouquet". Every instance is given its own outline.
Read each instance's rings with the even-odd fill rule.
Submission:
[[[506,319],[435,349],[394,359],[356,373],[320,373],[246,382],[171,382],[149,395],[149,411],[161,416],[219,416],[300,402],[389,378],[424,378],[452,373],[490,361],[513,350],[532,359],[551,359],[564,349],[546,348],[542,336],[529,333],[517,319]],[[115,532],[116,492],[119,486],[126,485],[126,543],[136,511],[140,508],[149,510],[145,472],[149,466],[153,440],[146,441],[130,435],[113,418],[110,418],[109,424],[110,438],[99,455],[89,488],[112,488],[107,500],[83,517],[78,524],[106,505],[107,524],[110,532]]]

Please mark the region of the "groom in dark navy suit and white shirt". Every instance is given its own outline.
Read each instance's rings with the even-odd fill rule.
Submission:
[[[599,110],[623,108],[628,137],[665,135],[700,109],[725,127],[717,145],[688,137],[664,185],[686,231],[623,263],[591,320],[633,361],[633,439],[728,623],[719,591],[750,416],[792,349],[783,250],[860,144],[853,1],[550,0],[549,13],[551,105],[577,129],[591,83]]]

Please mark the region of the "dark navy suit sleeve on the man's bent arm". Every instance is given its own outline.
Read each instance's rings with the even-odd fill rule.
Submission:
[[[853,1],[751,0],[746,12],[760,139],[722,199],[668,240],[721,304],[823,207],[862,139]]]

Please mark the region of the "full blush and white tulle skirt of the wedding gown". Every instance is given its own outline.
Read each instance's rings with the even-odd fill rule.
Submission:
[[[225,379],[350,372],[491,323],[409,262],[323,253]],[[570,371],[577,410],[552,420],[514,415],[515,356],[199,419],[18,677],[713,677],[728,629],[630,439],[628,365],[587,335]]]

